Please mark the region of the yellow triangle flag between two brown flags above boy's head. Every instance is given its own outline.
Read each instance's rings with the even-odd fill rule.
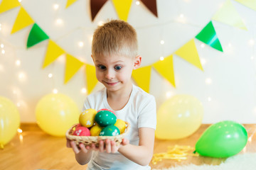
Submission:
[[[129,9],[132,6],[132,0],[112,0],[114,8],[117,11],[117,15],[123,21],[127,21],[129,15]]]

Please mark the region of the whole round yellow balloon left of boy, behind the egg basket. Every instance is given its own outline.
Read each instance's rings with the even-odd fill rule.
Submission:
[[[36,105],[39,127],[53,136],[65,136],[65,132],[78,123],[79,115],[78,106],[64,94],[48,94]]]

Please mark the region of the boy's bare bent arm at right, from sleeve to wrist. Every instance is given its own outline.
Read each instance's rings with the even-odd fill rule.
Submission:
[[[118,152],[132,162],[146,166],[153,157],[154,131],[153,128],[139,128],[139,146],[124,145],[119,147]]]

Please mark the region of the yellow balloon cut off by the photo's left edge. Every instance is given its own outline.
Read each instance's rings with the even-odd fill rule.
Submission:
[[[4,148],[6,143],[16,135],[20,125],[18,108],[8,98],[0,96],[0,147]]]

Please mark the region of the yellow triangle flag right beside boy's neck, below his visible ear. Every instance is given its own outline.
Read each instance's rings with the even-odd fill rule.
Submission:
[[[132,72],[132,77],[134,81],[147,93],[149,93],[150,76],[151,66],[134,69]]]

